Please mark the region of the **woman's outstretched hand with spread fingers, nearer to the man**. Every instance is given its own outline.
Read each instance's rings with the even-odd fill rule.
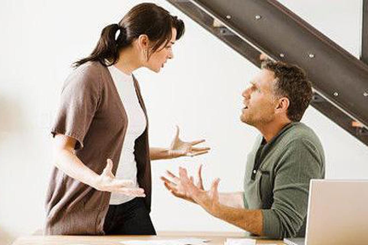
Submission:
[[[205,142],[204,139],[185,142],[179,138],[179,127],[176,126],[176,134],[169,148],[169,155],[173,158],[181,156],[198,156],[208,153],[209,147],[194,147],[199,143]]]

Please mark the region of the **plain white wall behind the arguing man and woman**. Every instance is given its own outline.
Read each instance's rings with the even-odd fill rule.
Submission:
[[[92,51],[101,29],[116,23],[141,1],[5,0],[0,8],[0,244],[42,227],[43,200],[51,169],[49,126],[70,64]],[[164,0],[154,1],[182,18],[186,33],[174,46],[174,60],[160,74],[136,75],[148,107],[152,146],[167,146],[174,125],[184,139],[205,138],[210,154],[152,163],[152,219],[157,230],[239,231],[197,206],[169,195],[159,181],[164,170],[196,169],[204,163],[205,184],[220,177],[220,191],[242,189],[245,156],[256,131],[239,121],[241,91],[257,72]],[[294,1],[283,3],[290,4]],[[300,2],[300,1],[298,1]],[[310,1],[309,1],[310,2]],[[313,2],[297,9],[336,42],[357,54],[359,4],[341,12]],[[361,2],[361,1],[358,1]],[[293,3],[294,8],[298,6]],[[309,15],[308,15],[309,13]],[[315,15],[310,13],[316,13]],[[349,13],[349,14],[346,14]],[[314,19],[323,16],[333,21]],[[349,23],[350,23],[349,22]],[[321,24],[322,23],[322,24]],[[339,26],[339,28],[336,28]],[[349,46],[349,47],[347,47]],[[320,136],[328,178],[367,178],[368,148],[328,118],[309,108],[303,120]]]

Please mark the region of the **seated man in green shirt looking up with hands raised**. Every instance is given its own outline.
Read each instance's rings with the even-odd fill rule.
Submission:
[[[241,121],[261,135],[248,154],[244,192],[219,193],[219,179],[205,191],[201,167],[194,184],[185,168],[162,177],[173,195],[208,213],[271,238],[304,237],[309,180],[324,178],[325,157],[318,137],[300,123],[312,98],[305,72],[296,65],[265,61],[243,92]]]

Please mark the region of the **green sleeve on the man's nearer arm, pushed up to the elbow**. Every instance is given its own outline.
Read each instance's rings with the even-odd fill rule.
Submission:
[[[296,237],[307,216],[309,181],[322,178],[318,147],[295,139],[283,149],[275,166],[273,203],[262,210],[263,233],[272,238]]]

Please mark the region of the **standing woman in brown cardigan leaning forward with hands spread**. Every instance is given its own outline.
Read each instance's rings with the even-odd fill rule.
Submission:
[[[52,128],[56,167],[46,199],[46,234],[156,234],[149,217],[150,160],[207,153],[176,137],[149,148],[148,121],[132,71],[159,72],[184,23],[152,3],[106,26],[92,54],[75,63]],[[107,164],[106,164],[107,161]]]

